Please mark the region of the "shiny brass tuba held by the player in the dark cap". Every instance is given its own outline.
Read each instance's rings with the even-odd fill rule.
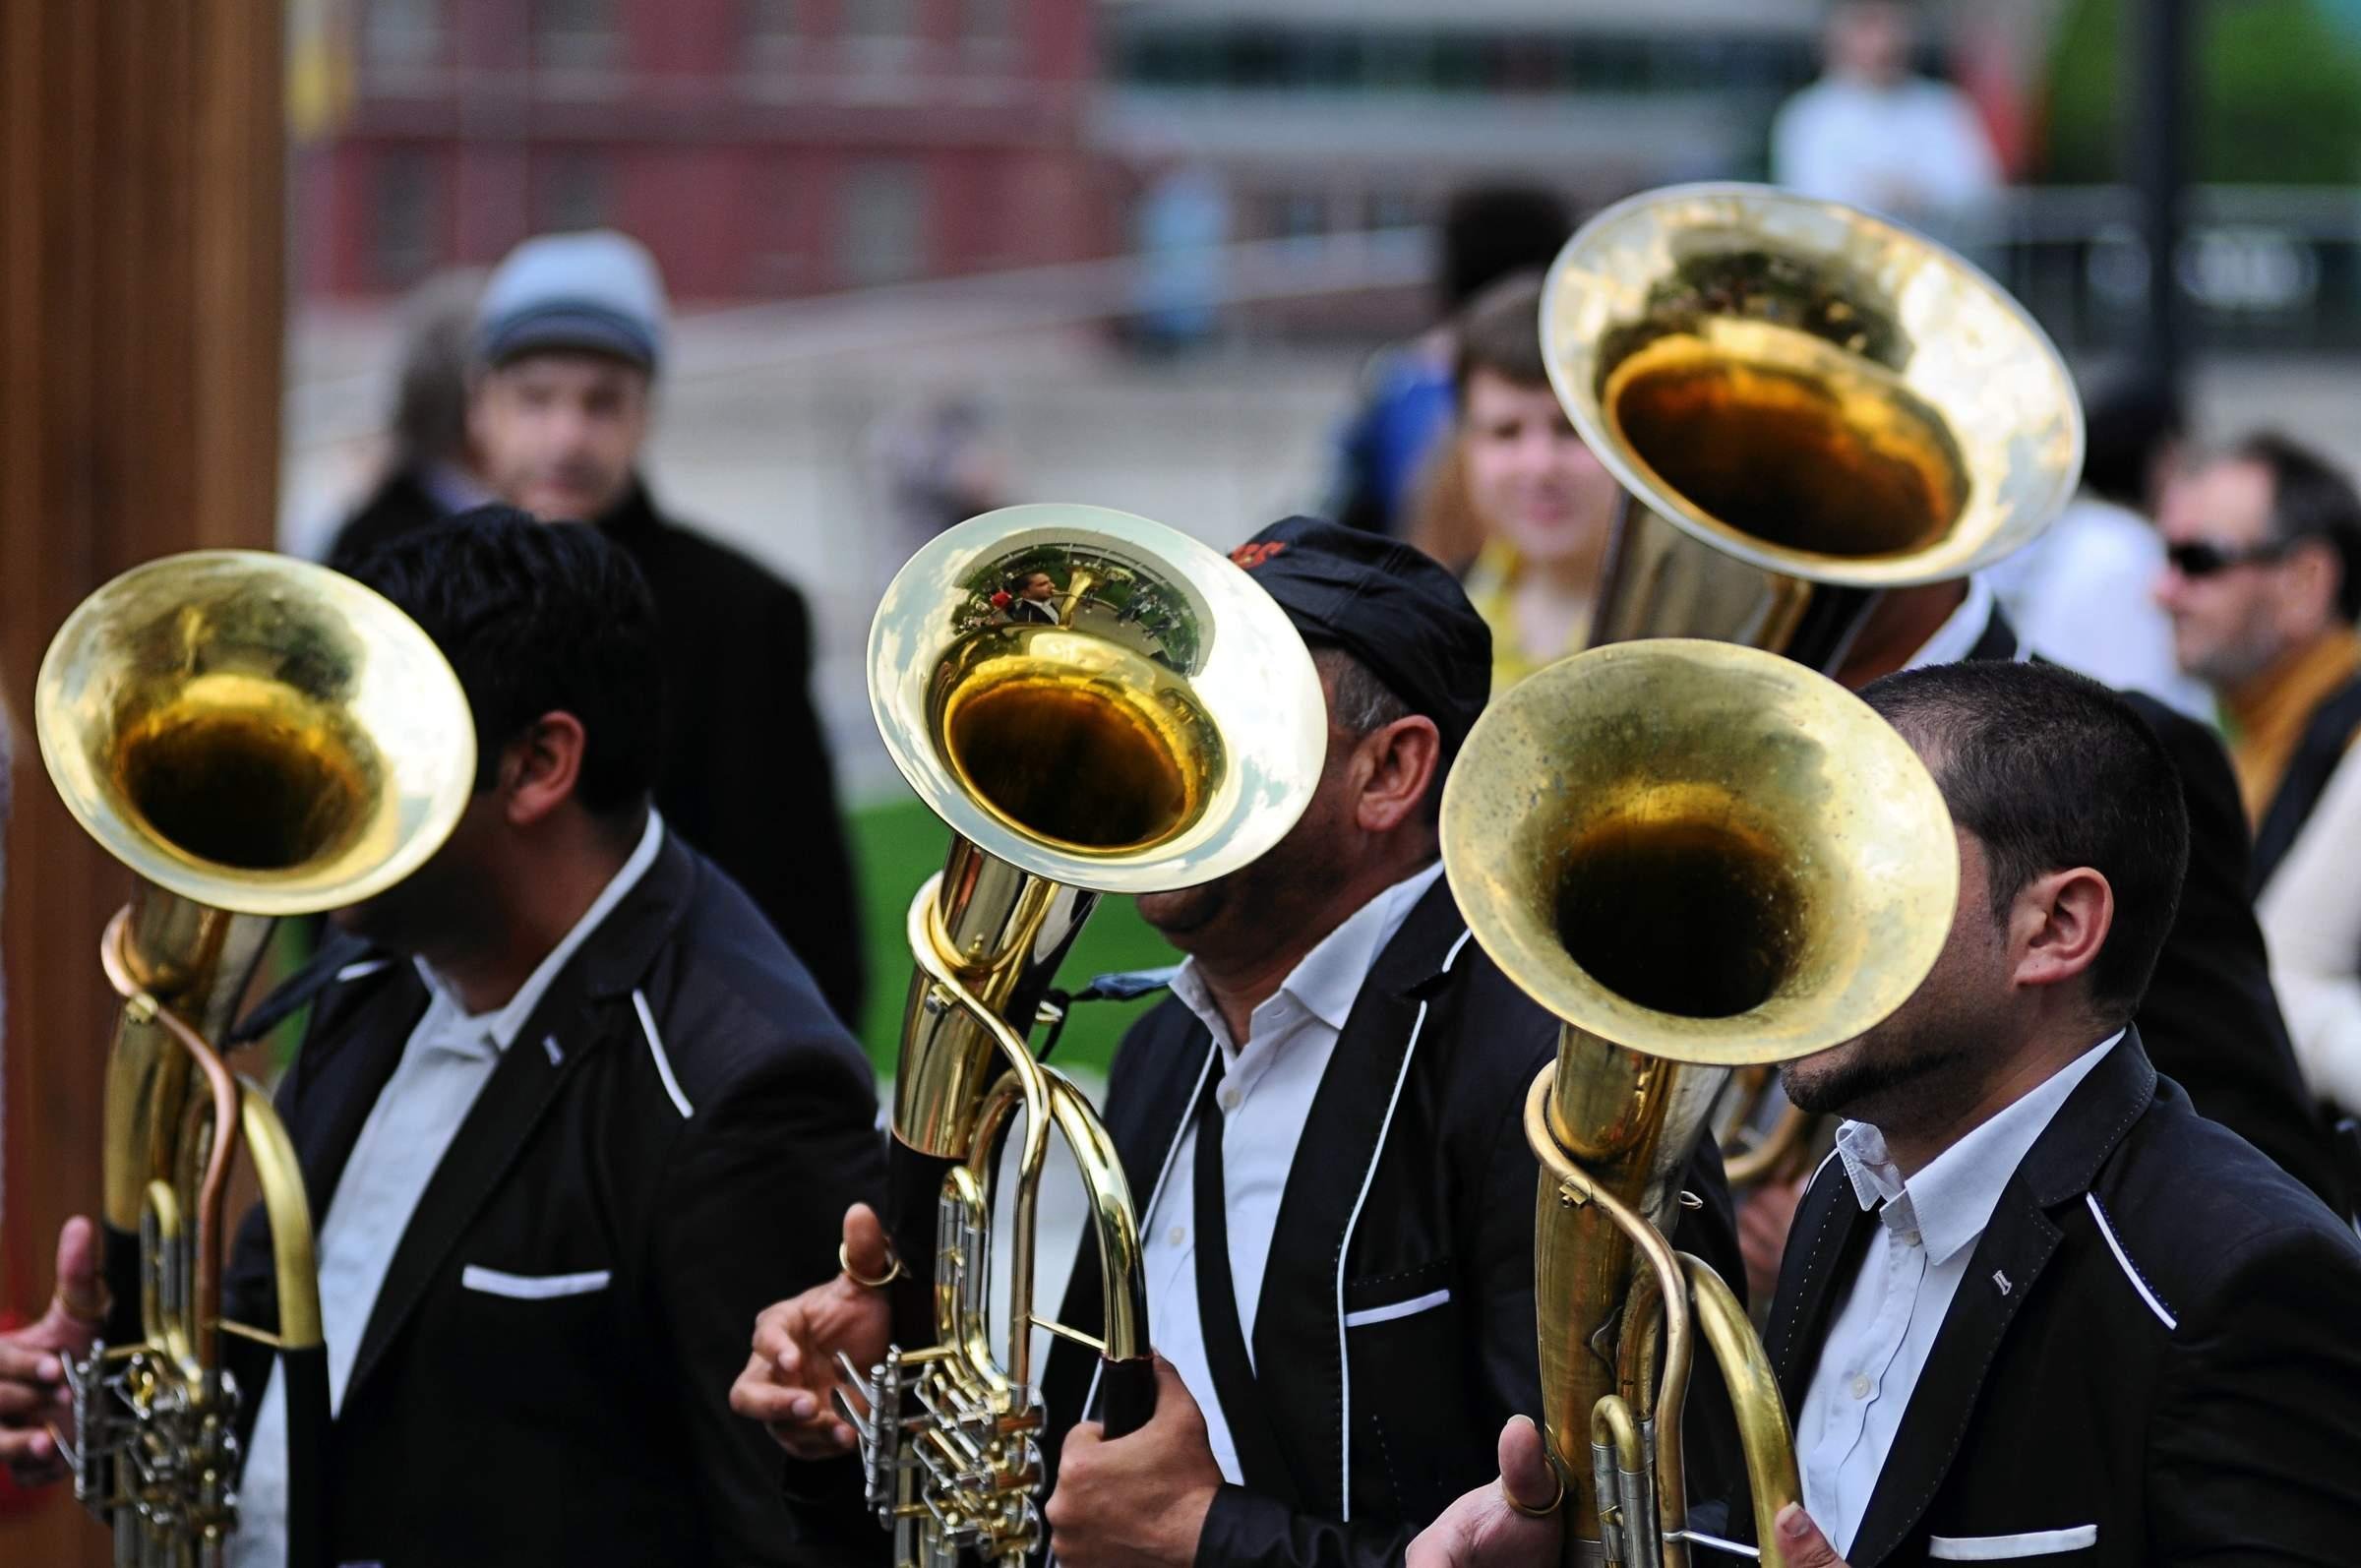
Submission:
[[[871,626],[869,699],[902,777],[951,827],[942,874],[909,909],[916,975],[892,1105],[897,1174],[949,1164],[933,1344],[892,1346],[866,1374],[845,1365],[859,1407],[843,1405],[900,1568],[963,1551],[1013,1563],[1041,1540],[1032,1329],[1100,1355],[1110,1436],[1155,1407],[1124,1169],[1088,1098],[1034,1056],[1032,1027],[1055,1025],[1051,980],[1100,893],[1214,881],[1294,827],[1327,756],[1325,704],[1303,640],[1244,571],[1088,505],[987,512],[918,550]],[[996,1346],[992,1176],[1018,1112]],[[1098,1337],[1034,1313],[1051,1129],[1088,1200]]]

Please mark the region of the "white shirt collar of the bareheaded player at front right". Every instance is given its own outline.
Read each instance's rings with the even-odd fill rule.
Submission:
[[[1875,1207],[1877,1219],[1889,1230],[1901,1235],[1915,1230],[1927,1247],[1929,1263],[1948,1263],[1983,1235],[2009,1176],[2033,1152],[2066,1096],[2089,1077],[2089,1070],[2115,1048],[2123,1034],[2125,1030],[2115,1030],[2052,1072],[2030,1093],[1929,1159],[1908,1181],[1886,1155],[1884,1133],[1868,1122],[1839,1124],[1837,1157],[1844,1159],[1844,1174],[1853,1183],[1853,1200],[1863,1209]]]

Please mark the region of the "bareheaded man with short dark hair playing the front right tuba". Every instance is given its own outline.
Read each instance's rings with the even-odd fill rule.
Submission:
[[[1960,904],[1910,1001],[1780,1067],[1846,1117],[1768,1315],[1787,1563],[2352,1561],[2361,1244],[2130,1023],[2189,852],[2172,756],[2054,666],[1863,697],[1950,803]],[[1520,1500],[1530,1450],[1502,1433]],[[1480,1490],[1412,1568],[1542,1568],[1551,1535]]]

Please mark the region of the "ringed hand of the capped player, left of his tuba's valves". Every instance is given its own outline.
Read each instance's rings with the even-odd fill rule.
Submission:
[[[864,1278],[890,1268],[885,1228],[869,1204],[845,1209],[845,1259]],[[836,1353],[871,1367],[892,1339],[892,1304],[871,1285],[836,1275],[791,1301],[763,1308],[753,1322],[753,1358],[730,1389],[730,1407],[770,1429],[798,1459],[836,1459],[859,1436],[836,1410],[843,1372]]]

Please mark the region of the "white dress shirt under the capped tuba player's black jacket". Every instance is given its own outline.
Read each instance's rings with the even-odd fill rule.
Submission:
[[[1296,1162],[1296,1141],[1310,1119],[1313,1096],[1327,1074],[1343,1020],[1360,999],[1376,956],[1402,928],[1410,912],[1443,876],[1431,864],[1355,909],[1336,930],[1280,982],[1247,1018],[1247,1044],[1230,1041],[1230,1027],[1195,961],[1173,975],[1173,997],[1214,1034],[1221,1051],[1223,1115],[1221,1181],[1223,1223],[1230,1230],[1230,1285],[1237,1289],[1237,1327],[1254,1355],[1254,1308],[1263,1296],[1270,1233],[1280,1223],[1280,1195]],[[1204,1410],[1204,1433],[1225,1481],[1244,1481],[1237,1443],[1214,1393],[1214,1367],[1197,1315],[1197,1129],[1180,1129],[1171,1167],[1147,1216],[1147,1322],[1155,1348],[1173,1363],[1190,1396]]]

